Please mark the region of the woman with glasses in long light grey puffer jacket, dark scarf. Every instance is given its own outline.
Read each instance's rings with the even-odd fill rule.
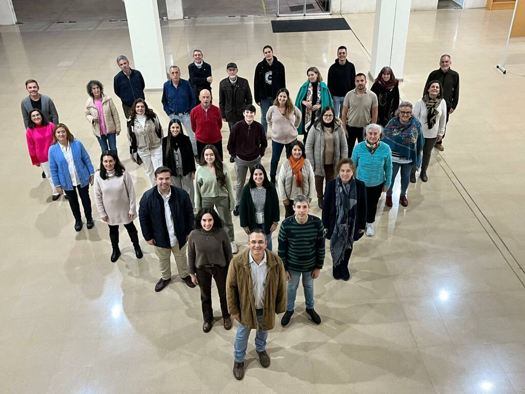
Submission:
[[[339,160],[348,157],[348,145],[341,127],[341,121],[335,118],[333,107],[324,107],[321,117],[316,121],[310,136],[306,140],[306,157],[312,163],[316,179],[317,204],[323,208],[324,179],[335,178],[335,166]]]

